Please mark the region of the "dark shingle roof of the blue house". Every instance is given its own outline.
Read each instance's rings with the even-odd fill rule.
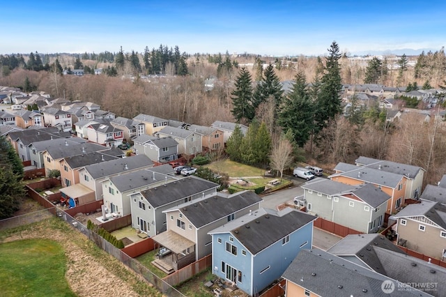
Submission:
[[[293,208],[284,208],[278,212],[261,208],[210,233],[230,231],[249,252],[258,254],[313,220],[316,220],[314,215]]]

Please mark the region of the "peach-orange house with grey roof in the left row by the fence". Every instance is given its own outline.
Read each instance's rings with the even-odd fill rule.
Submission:
[[[61,181],[63,187],[69,187],[79,183],[79,169],[85,166],[116,160],[119,157],[107,154],[108,151],[84,153],[73,155],[59,160],[61,168]],[[94,195],[93,195],[94,200]]]

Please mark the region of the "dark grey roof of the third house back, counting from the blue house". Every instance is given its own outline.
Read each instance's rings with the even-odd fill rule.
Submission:
[[[157,167],[154,167],[153,169],[156,168]],[[219,185],[217,183],[206,181],[197,176],[188,176],[187,178],[181,178],[178,181],[170,181],[166,186],[157,187],[156,190],[155,188],[152,188],[141,191],[141,195],[146,198],[153,208],[157,208],[190,197],[199,192],[218,187]],[[180,201],[179,204],[182,204],[183,202],[184,200]]]

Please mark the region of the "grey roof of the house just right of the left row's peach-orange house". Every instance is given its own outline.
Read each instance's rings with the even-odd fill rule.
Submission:
[[[125,172],[123,168],[127,165],[127,171],[153,166],[153,162],[146,155],[132,155],[128,158],[110,160],[100,164],[86,166],[85,169],[92,178],[107,177],[120,172]]]

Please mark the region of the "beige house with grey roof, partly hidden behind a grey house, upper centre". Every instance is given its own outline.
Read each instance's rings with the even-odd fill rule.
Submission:
[[[192,130],[185,130],[174,127],[164,127],[156,132],[156,137],[171,137],[178,142],[178,153],[185,155],[196,155],[201,153],[201,134]]]

